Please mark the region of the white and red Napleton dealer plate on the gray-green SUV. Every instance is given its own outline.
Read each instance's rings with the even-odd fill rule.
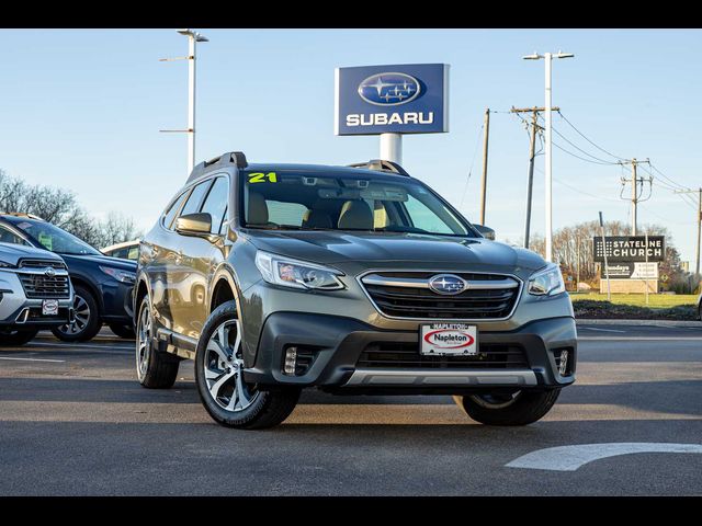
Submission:
[[[419,353],[429,356],[478,354],[478,328],[466,323],[427,323],[420,328]]]

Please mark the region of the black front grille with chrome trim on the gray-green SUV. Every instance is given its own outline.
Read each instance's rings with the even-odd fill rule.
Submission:
[[[361,283],[385,316],[439,320],[498,320],[508,318],[517,304],[521,282],[499,274],[455,273],[468,283],[456,295],[429,288],[437,273],[378,272]]]

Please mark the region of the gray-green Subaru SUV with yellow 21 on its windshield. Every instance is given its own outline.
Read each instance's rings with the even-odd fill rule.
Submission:
[[[484,238],[398,164],[195,167],[139,247],[136,368],[195,359],[219,424],[284,421],[301,390],[453,395],[524,425],[575,381],[558,266]]]

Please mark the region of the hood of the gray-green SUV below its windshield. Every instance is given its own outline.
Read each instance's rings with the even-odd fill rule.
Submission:
[[[250,232],[250,231],[249,231]],[[361,266],[501,271],[520,274],[543,267],[536,253],[483,238],[417,233],[348,231],[257,231],[249,237],[259,249],[325,264]]]

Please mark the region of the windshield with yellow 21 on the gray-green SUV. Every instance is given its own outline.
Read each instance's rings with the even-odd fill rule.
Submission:
[[[361,230],[474,237],[469,227],[416,180],[242,172],[249,228]]]

